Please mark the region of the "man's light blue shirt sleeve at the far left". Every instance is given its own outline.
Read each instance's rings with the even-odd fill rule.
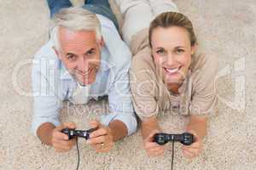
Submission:
[[[47,59],[35,57],[32,66],[32,92],[33,92],[33,116],[32,133],[37,136],[37,130],[44,122],[50,122],[55,126],[60,125],[58,115],[62,106],[63,96],[58,95],[61,90],[53,78],[47,77],[49,70]]]

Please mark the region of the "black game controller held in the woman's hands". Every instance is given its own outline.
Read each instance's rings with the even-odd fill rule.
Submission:
[[[185,145],[190,145],[194,142],[194,136],[191,133],[182,134],[168,134],[168,133],[155,133],[154,142],[157,144],[166,144],[169,141],[180,142]]]

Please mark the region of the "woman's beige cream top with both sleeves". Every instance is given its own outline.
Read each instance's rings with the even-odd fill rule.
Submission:
[[[142,46],[142,43],[140,45]],[[164,111],[183,116],[206,116],[216,111],[216,58],[204,54],[193,55],[189,74],[178,89],[179,94],[172,94],[154,65],[151,49],[145,45],[142,47],[135,47],[138,50],[133,51],[136,55],[130,70],[133,105],[141,119],[157,116]]]

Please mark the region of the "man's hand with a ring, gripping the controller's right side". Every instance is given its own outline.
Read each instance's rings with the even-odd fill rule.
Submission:
[[[96,131],[90,133],[90,139],[87,140],[96,152],[108,152],[113,148],[113,134],[110,127],[102,125],[101,122],[91,121],[90,127],[96,128]]]

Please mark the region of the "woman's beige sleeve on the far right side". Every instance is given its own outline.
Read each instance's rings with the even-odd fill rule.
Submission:
[[[198,61],[201,69],[195,74],[194,92],[189,105],[189,114],[209,116],[214,114],[218,99],[216,95],[215,77],[218,72],[218,59],[204,56]],[[198,65],[199,65],[198,64]]]

